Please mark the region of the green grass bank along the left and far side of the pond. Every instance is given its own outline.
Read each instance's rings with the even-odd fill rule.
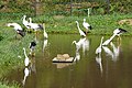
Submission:
[[[120,20],[131,19],[131,14],[110,14],[110,15],[91,15],[91,16],[45,16],[40,15],[33,18],[33,22],[45,23],[46,31],[48,33],[78,33],[75,21],[77,20],[80,24],[80,29],[85,30],[81,25],[82,19],[86,18],[87,22],[92,25],[89,34],[112,34],[112,31],[117,28],[122,28],[128,30],[128,33],[123,35],[132,35],[132,25],[118,24]],[[23,47],[29,47],[29,43],[34,40],[34,34],[26,34],[20,40],[14,38],[15,32],[12,28],[6,26],[8,22],[18,22],[22,24],[20,19],[1,19],[0,22],[0,78],[11,73],[12,69],[23,67]],[[23,26],[23,25],[22,25]],[[29,52],[29,50],[26,50]],[[18,56],[22,56],[19,58]],[[1,86],[2,85],[2,86]],[[8,85],[8,84],[6,84]],[[4,84],[0,82],[0,88],[10,88]],[[15,88],[11,87],[11,88]]]

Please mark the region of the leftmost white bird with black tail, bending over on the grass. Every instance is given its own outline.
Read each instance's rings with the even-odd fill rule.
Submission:
[[[8,26],[13,26],[14,31],[16,32],[16,34],[20,34],[22,37],[25,35],[25,32],[21,28],[20,24],[18,24],[18,23],[8,23]]]

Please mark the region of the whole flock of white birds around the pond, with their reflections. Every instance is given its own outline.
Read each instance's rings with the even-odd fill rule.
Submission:
[[[48,38],[48,35],[47,35],[47,33],[45,31],[45,24],[44,23],[43,24],[33,23],[31,18],[29,18],[29,20],[26,20],[26,15],[23,15],[22,23],[26,28],[26,30],[32,30],[35,33],[37,31],[42,31],[43,30],[43,34],[44,34],[44,38],[45,38],[44,40],[44,46],[43,46],[43,51],[44,51],[45,43],[47,44],[47,38]],[[76,21],[76,23],[77,23],[78,32],[79,32],[80,36],[82,36],[79,40],[79,42],[73,41],[73,44],[76,45],[76,56],[75,56],[75,59],[79,61],[80,59],[80,54],[78,52],[79,48],[82,47],[84,52],[89,50],[89,41],[86,38],[86,36],[87,36],[88,31],[91,30],[91,25],[86,22],[86,19],[84,19],[82,25],[86,29],[86,31],[84,32],[80,29],[80,26],[79,26],[79,22]],[[22,37],[25,36],[25,31],[22,29],[22,26],[19,23],[8,23],[8,26],[13,26],[14,31],[16,32],[16,34],[21,35]],[[113,53],[116,55],[118,55],[118,53],[119,53],[118,48],[116,48],[114,44],[112,44],[111,41],[114,38],[114,36],[119,36],[120,37],[120,35],[122,33],[124,33],[124,32],[127,32],[127,31],[123,30],[123,29],[116,29],[113,31],[113,35],[110,38],[108,38],[107,41],[103,42],[103,36],[101,37],[101,42],[100,42],[99,46],[96,50],[96,54],[97,54],[96,61],[99,64],[101,72],[102,72],[102,65],[101,65],[101,51],[102,51],[102,48],[105,50],[106,53],[108,53],[111,56],[113,56],[111,51],[108,47],[106,47],[108,44],[110,44],[113,47],[113,50],[114,50]],[[35,46],[36,46],[36,41],[33,41],[33,42],[30,43],[29,48],[31,50],[31,53],[30,53],[31,55],[33,54],[33,52],[35,50]],[[24,56],[25,56],[25,59],[24,59],[24,64],[25,64],[24,73],[25,73],[25,76],[24,76],[24,80],[23,80],[23,84],[24,84],[25,79],[26,79],[26,77],[29,75],[29,69],[26,67],[29,66],[31,61],[28,57],[25,47],[23,47],[23,52],[24,52]]]

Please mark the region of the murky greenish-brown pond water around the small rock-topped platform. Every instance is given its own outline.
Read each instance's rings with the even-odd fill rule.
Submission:
[[[107,40],[110,36],[105,36]],[[132,38],[117,37],[95,54],[101,36],[81,38],[76,34],[51,34],[48,40],[37,38],[36,56],[30,67],[13,70],[7,79],[18,81],[24,88],[131,88]],[[44,45],[45,44],[45,45]],[[74,63],[52,63],[57,54],[76,57]],[[26,74],[24,74],[24,70]]]

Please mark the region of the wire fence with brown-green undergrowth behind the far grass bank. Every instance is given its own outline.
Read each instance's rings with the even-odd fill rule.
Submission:
[[[112,1],[112,0],[111,0]],[[132,12],[131,1],[110,2],[110,0],[31,0],[18,6],[14,1],[8,3],[8,8],[0,6],[0,19],[20,18],[29,15],[77,15],[107,14],[113,12]],[[15,4],[15,6],[14,6]],[[3,10],[2,10],[3,9]]]

